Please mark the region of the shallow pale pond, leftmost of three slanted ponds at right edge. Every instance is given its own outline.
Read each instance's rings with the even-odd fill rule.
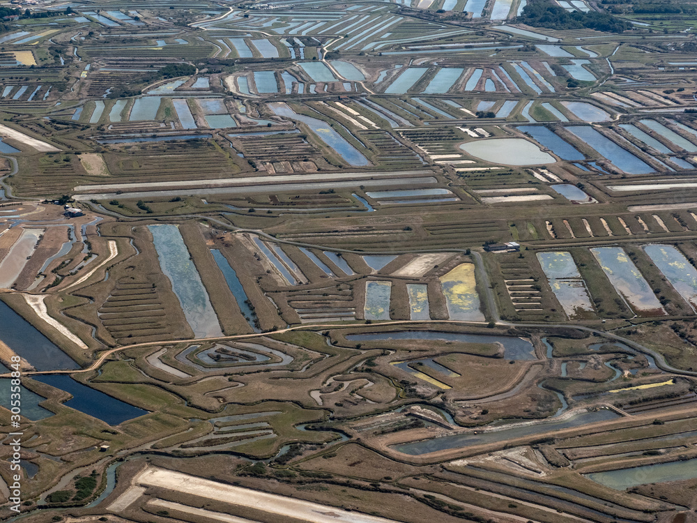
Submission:
[[[569,318],[592,312],[588,289],[569,252],[538,252],[537,260],[554,296]]]

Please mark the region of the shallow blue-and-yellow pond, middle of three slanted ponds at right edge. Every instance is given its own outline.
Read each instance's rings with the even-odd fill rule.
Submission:
[[[590,250],[615,290],[636,312],[656,316],[664,311],[648,282],[620,247],[597,247]]]

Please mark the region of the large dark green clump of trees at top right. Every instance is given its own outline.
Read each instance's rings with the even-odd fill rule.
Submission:
[[[523,8],[516,22],[533,27],[547,27],[562,31],[565,29],[595,29],[605,33],[622,33],[631,27],[629,22],[619,20],[609,13],[596,11],[569,12],[554,5],[551,0],[533,0]]]

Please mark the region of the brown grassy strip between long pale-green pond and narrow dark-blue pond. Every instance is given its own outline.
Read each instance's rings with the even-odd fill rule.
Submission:
[[[217,314],[224,334],[250,333],[252,328],[240,312],[239,305],[232,295],[225,278],[218,269],[213,255],[210,253],[206,238],[200,226],[194,223],[183,224],[179,232],[190,252],[201,281],[208,291],[210,303]]]

